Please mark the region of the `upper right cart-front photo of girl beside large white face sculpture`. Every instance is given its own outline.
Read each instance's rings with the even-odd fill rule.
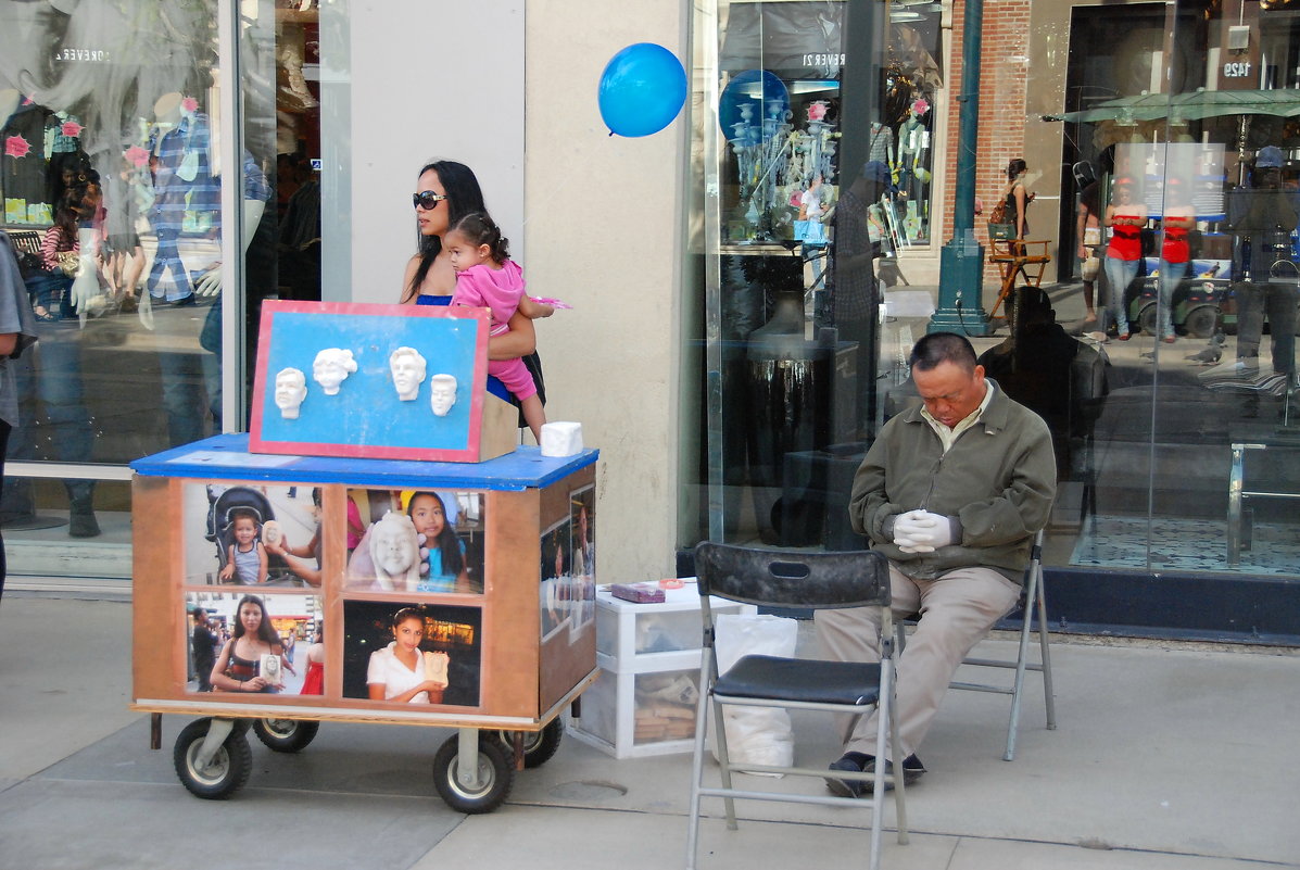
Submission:
[[[348,532],[361,531],[347,590],[482,594],[482,493],[352,489],[348,499]]]

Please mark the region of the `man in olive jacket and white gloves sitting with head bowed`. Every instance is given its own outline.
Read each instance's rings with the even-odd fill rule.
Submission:
[[[965,337],[926,336],[910,363],[923,407],[880,429],[849,502],[854,531],[889,558],[894,615],[922,614],[898,661],[897,754],[907,782],[926,771],[915,753],[957,667],[1019,598],[1056,495],[1046,425],[984,377]],[[822,610],[816,629],[827,658],[880,657],[875,610]],[[872,770],[875,733],[872,714],[831,770]],[[866,783],[827,776],[827,785],[848,797]]]

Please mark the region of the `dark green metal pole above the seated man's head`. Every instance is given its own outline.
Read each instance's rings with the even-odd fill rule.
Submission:
[[[975,147],[979,133],[980,36],[984,0],[966,0],[962,25],[962,90],[957,95],[957,196],[953,203],[953,238],[939,261],[939,310],[928,332],[984,336],[988,315],[983,308],[984,246],[975,238]]]

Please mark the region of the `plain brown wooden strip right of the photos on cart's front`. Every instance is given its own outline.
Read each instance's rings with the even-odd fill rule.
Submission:
[[[488,597],[482,613],[482,709],[537,718],[541,541],[538,490],[489,492]]]

